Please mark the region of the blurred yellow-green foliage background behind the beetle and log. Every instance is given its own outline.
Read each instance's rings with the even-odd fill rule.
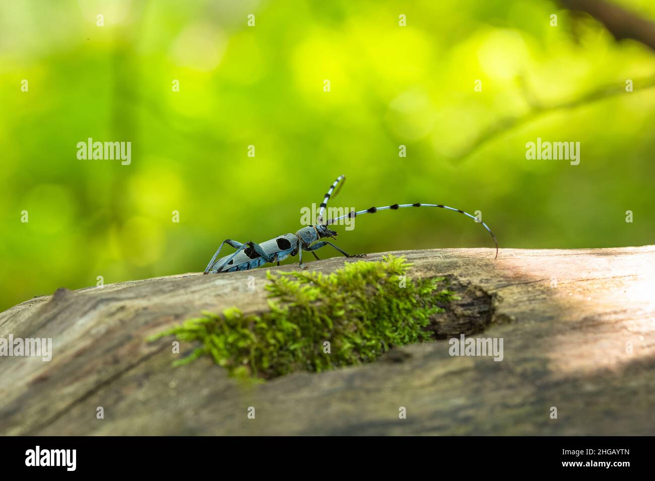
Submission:
[[[550,1],[3,0],[0,309],[202,271],[225,238],[295,232],[341,173],[333,206],[480,210],[501,248],[652,243],[653,79],[652,51]],[[78,160],[88,137],[132,163]],[[536,137],[580,165],[526,160]],[[337,230],[352,253],[493,247],[437,209]]]

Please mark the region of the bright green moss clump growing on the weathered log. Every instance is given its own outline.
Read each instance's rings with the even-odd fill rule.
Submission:
[[[409,266],[388,255],[381,262],[345,264],[329,275],[269,271],[270,312],[203,312],[149,340],[174,334],[180,341],[200,341],[202,346],[174,364],[211,355],[240,378],[375,361],[392,346],[430,340],[430,316],[443,312],[440,303],[455,298],[451,291],[438,290],[443,277],[403,277]]]

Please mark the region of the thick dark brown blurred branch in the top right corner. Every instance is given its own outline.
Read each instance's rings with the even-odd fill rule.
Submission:
[[[633,39],[655,50],[655,23],[605,0],[560,0],[569,10],[586,12],[599,20],[615,39]]]

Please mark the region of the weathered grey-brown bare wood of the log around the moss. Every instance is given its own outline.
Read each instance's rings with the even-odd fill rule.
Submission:
[[[0,357],[0,434],[655,434],[655,246],[396,254],[412,276],[448,276],[463,296],[450,325],[503,338],[503,361],[440,340],[246,387],[208,359],[172,368],[172,339],[143,340],[201,310],[264,309],[265,270],[60,289],[0,314],[0,337],[54,339],[49,363]]]

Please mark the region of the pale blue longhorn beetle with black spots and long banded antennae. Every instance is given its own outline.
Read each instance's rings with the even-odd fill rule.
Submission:
[[[342,215],[341,217],[335,217],[334,219],[329,219],[329,221],[324,223],[323,213],[326,210],[327,201],[333,195],[332,192],[335,189],[335,187],[337,187],[337,185],[339,185],[339,183],[343,181],[345,178],[346,178],[345,175],[339,175],[339,177],[337,177],[337,180],[335,180],[334,183],[330,186],[329,190],[327,190],[327,194],[325,194],[325,198],[322,204],[320,204],[320,210],[318,212],[318,219],[317,219],[318,224],[316,224],[315,226],[303,227],[295,234],[283,234],[282,236],[278,236],[274,239],[262,242],[261,244],[254,243],[252,241],[240,243],[231,239],[226,239],[221,243],[218,250],[214,254],[214,257],[212,257],[212,260],[209,261],[209,264],[207,264],[207,268],[204,270],[204,274],[208,274],[210,272],[232,272],[235,270],[254,269],[259,266],[262,266],[263,264],[266,264],[267,262],[277,262],[279,266],[280,260],[284,260],[290,255],[291,256],[297,255],[300,267],[305,268],[305,265],[303,264],[303,251],[312,253],[312,255],[316,257],[316,260],[319,260],[318,256],[314,251],[317,251],[318,249],[321,249],[326,245],[330,245],[331,247],[334,247],[335,249],[337,249],[337,251],[345,255],[345,257],[364,257],[365,254],[348,255],[345,251],[342,251],[341,249],[339,249],[339,247],[337,247],[331,242],[318,241],[323,238],[333,238],[336,240],[337,232],[330,230],[329,228],[327,228],[327,226],[337,221],[340,221],[341,219],[345,219],[346,217],[352,218],[363,214],[374,214],[378,211],[402,209],[403,207],[441,207],[441,209],[448,209],[451,211],[458,212],[460,214],[464,214],[470,217],[471,219],[474,219],[477,222],[476,217],[474,217],[473,215],[470,215],[469,213],[464,211],[460,211],[460,209],[447,207],[447,205],[394,204],[394,205],[386,205],[385,207],[371,207],[370,209],[365,209],[363,211],[350,211],[346,215]],[[337,192],[334,193],[334,195],[337,195],[337,193],[339,192],[342,186],[343,186],[343,182],[341,183],[341,185],[339,185],[339,188],[337,189]],[[487,226],[487,224],[485,223],[481,223],[481,224],[485,227],[485,229],[489,231],[489,234],[491,234],[491,237],[496,243],[496,258],[498,258],[498,241],[496,241],[496,236],[494,236],[493,232],[491,232],[491,229],[489,229],[489,226]],[[219,253],[221,253],[221,249],[223,249],[223,245],[225,244],[234,247],[234,249],[236,249],[236,252],[216,260]]]

